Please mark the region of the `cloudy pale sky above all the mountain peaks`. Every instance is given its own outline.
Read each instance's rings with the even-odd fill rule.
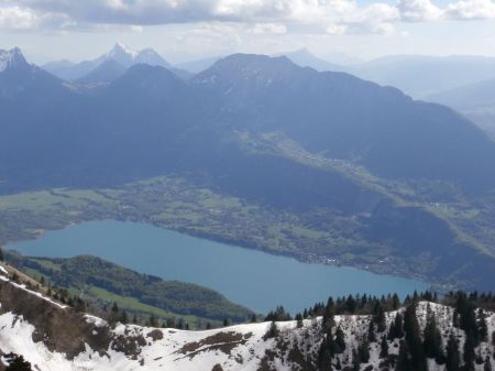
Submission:
[[[329,57],[495,55],[492,0],[0,0],[0,48],[94,58],[116,41],[170,62],[307,47]]]

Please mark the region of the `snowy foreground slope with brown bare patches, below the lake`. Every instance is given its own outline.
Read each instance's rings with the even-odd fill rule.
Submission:
[[[16,353],[33,370],[318,370],[316,360],[322,340],[321,318],[277,323],[278,334],[267,337],[271,323],[246,324],[206,331],[158,329],[134,325],[110,326],[80,314],[16,284],[0,268],[0,350]],[[404,309],[400,309],[404,310]],[[435,313],[444,339],[454,331],[460,348],[463,331],[452,328],[453,309],[421,302],[417,308],[421,328],[427,312]],[[387,328],[396,313],[386,314]],[[342,369],[352,365],[352,351],[367,336],[370,316],[336,316],[336,327],[345,335],[345,351],[336,356]],[[488,334],[495,330],[495,315],[487,314]],[[370,343],[370,361],[361,370],[383,370],[380,338]],[[398,353],[398,339],[391,340],[389,354]],[[447,341],[444,340],[443,343]],[[483,342],[476,352],[493,359],[493,345]],[[337,360],[336,358],[336,360]],[[2,358],[2,361],[4,359]],[[0,370],[6,364],[0,365]],[[444,370],[429,360],[429,370]],[[476,364],[484,370],[484,364]]]

